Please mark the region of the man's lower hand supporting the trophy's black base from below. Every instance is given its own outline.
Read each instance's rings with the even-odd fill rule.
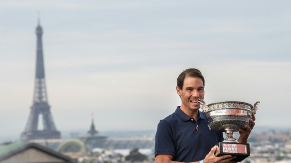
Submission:
[[[206,155],[203,162],[204,163],[228,163],[230,160],[236,158],[236,156],[231,156],[231,155],[223,155],[223,156],[216,157],[214,155],[215,151],[216,152],[219,151],[218,146],[214,146],[211,148],[210,152]]]

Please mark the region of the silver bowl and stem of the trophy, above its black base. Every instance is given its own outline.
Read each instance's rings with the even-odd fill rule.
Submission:
[[[249,125],[249,119],[252,118],[252,113],[256,113],[257,104],[254,106],[246,102],[226,101],[215,102],[206,106],[205,101],[199,99],[201,109],[206,114],[209,125],[214,130],[226,132],[224,142],[238,143],[232,137],[233,132],[244,129],[244,125]]]

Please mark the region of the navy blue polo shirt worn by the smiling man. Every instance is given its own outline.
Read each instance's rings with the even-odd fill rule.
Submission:
[[[171,154],[172,161],[193,162],[204,159],[223,136],[209,127],[204,113],[198,111],[195,121],[178,106],[173,114],[160,120],[155,141],[155,156]]]

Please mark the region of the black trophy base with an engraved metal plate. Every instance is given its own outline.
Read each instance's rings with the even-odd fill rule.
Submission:
[[[250,144],[249,143],[217,143],[219,151],[216,151],[215,156],[232,155],[236,158],[231,161],[243,161],[250,155]]]

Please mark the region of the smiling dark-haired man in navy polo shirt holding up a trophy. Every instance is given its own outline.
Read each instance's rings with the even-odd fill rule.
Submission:
[[[196,162],[226,163],[235,157],[215,157],[215,146],[223,141],[222,132],[209,127],[206,115],[199,111],[198,100],[204,98],[205,80],[198,69],[186,69],[177,78],[176,91],[181,106],[160,121],[157,127],[155,158],[156,163]],[[247,143],[255,117],[250,126],[240,129],[238,142]]]

